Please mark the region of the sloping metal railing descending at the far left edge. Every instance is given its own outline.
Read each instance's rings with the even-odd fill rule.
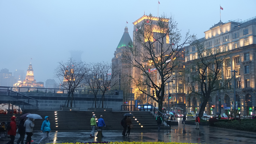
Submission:
[[[23,95],[23,94],[20,94],[18,92],[11,91],[11,90],[0,89],[0,95],[8,95],[8,96],[10,96],[14,99],[20,100],[22,102],[25,102],[25,103],[28,103],[28,104],[31,104],[31,105],[34,105],[36,107],[37,107],[37,104],[38,104],[38,100],[30,98],[30,97],[28,97],[26,95]]]

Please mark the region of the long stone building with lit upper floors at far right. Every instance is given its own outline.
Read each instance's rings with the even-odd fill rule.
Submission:
[[[220,48],[221,52],[227,52],[227,60],[223,63],[227,68],[222,69],[224,79],[231,79],[234,76],[232,70],[236,73],[236,103],[242,115],[250,115],[255,106],[255,82],[256,82],[256,17],[247,20],[229,20],[225,23],[219,22],[204,32],[205,36],[198,39],[204,43],[207,49],[216,52]],[[193,45],[185,47],[185,66],[198,59],[197,51]],[[190,74],[186,74],[186,80],[189,81]],[[233,78],[232,78],[233,79]],[[234,80],[231,80],[234,85]],[[232,87],[231,87],[232,88]],[[198,86],[195,85],[195,89]],[[186,86],[186,94],[189,87]],[[211,95],[211,99],[205,108],[205,113],[214,115],[219,107],[226,103],[227,107],[232,107],[234,102],[234,90],[219,92],[220,103],[216,93]],[[186,111],[199,112],[201,100],[194,97],[186,102]],[[221,113],[224,108],[221,108]]]

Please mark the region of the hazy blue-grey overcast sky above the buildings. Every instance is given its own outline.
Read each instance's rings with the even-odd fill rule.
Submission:
[[[173,15],[182,31],[198,38],[220,21],[256,16],[256,0],[159,0],[159,15]],[[82,60],[111,62],[126,21],[132,38],[135,20],[157,16],[157,0],[1,0],[0,69],[23,69],[31,61],[37,82],[54,78],[58,61],[70,50]],[[31,60],[32,58],[32,60]],[[57,79],[54,78],[56,81]]]

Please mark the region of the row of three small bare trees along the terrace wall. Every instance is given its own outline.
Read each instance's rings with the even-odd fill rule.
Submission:
[[[67,62],[60,61],[58,63],[59,66],[55,69],[55,77],[59,79],[62,88],[68,92],[65,102],[66,107],[76,107],[74,92],[76,89],[85,87],[94,95],[93,105],[95,108],[100,107],[97,95],[101,92],[101,107],[103,108],[106,92],[112,90],[119,82],[116,76],[119,75],[120,70],[107,62],[87,64],[69,58]]]

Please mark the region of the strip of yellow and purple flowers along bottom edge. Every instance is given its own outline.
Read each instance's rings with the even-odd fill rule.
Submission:
[[[99,143],[108,143],[108,144],[196,144],[196,143],[182,143],[182,142],[108,142],[108,141],[103,141],[103,142],[84,142],[84,143],[80,143],[80,142],[76,142],[76,143],[61,143],[61,144],[99,144]]]

